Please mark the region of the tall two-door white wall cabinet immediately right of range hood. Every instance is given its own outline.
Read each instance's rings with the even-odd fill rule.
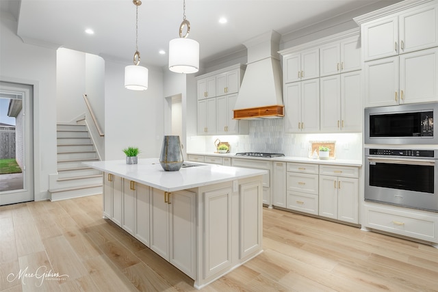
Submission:
[[[320,79],[285,84],[285,131],[320,130]]]

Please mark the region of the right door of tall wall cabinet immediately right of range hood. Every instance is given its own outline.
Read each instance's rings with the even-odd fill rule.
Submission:
[[[301,82],[301,129],[305,132],[320,131],[320,79]]]

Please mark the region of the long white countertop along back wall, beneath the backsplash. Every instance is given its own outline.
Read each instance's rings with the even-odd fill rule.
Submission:
[[[362,166],[361,160],[353,159],[312,159],[307,157],[272,157],[261,158],[252,156],[235,156],[235,153],[187,153],[188,155],[203,155],[203,156],[217,156],[217,157],[231,157],[231,158],[243,158],[243,159],[261,159],[270,161],[285,161],[285,162],[298,162],[298,163],[314,163],[314,164],[329,164],[329,165],[344,165],[344,166]]]

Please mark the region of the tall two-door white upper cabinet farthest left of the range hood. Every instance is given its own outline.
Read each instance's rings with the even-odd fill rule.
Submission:
[[[198,101],[198,135],[216,133],[216,98]]]

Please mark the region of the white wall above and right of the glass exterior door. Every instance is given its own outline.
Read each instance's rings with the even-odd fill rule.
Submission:
[[[56,51],[24,44],[16,25],[1,15],[0,80],[34,86],[34,197],[45,200],[56,172]]]

